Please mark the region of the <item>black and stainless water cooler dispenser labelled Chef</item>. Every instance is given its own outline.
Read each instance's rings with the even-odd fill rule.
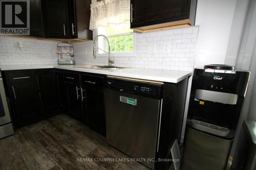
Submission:
[[[250,72],[228,65],[195,68],[182,169],[225,169]]]

